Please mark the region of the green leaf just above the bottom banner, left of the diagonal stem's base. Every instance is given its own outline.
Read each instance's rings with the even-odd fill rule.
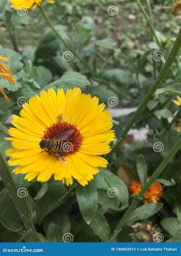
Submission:
[[[92,230],[97,236],[102,240],[102,242],[107,242],[110,235],[110,226],[102,213],[96,211],[92,221],[90,222]]]

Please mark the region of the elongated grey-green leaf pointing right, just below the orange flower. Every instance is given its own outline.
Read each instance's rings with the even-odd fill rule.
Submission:
[[[154,215],[163,207],[163,203],[148,203],[146,205],[136,208],[127,218],[126,222],[134,222],[137,220],[144,220]]]

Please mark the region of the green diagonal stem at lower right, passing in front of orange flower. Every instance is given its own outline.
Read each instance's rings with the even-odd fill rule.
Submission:
[[[124,215],[120,219],[118,225],[116,226],[115,230],[120,230],[124,225],[126,225],[128,216],[130,213],[133,212],[134,208],[137,206],[137,204],[140,202],[140,198],[143,197],[144,193],[149,189],[149,187],[152,185],[152,183],[155,182],[155,180],[158,178],[160,173],[165,169],[166,165],[170,162],[170,159],[176,154],[176,152],[181,148],[181,138],[176,142],[176,144],[172,147],[168,155],[163,159],[161,164],[158,166],[158,168],[155,170],[153,175],[145,182],[145,184],[142,187],[141,192],[139,192],[136,197],[134,198],[134,201],[131,203],[129,208],[125,211]],[[111,235],[114,236],[115,233]]]

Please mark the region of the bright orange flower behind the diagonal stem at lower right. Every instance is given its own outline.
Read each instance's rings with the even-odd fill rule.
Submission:
[[[149,180],[149,177],[147,178]],[[160,198],[162,197],[162,185],[160,182],[154,182],[150,188],[144,193],[144,204],[147,203],[157,203],[157,201],[160,201]],[[129,186],[129,191],[133,193],[133,195],[136,195],[141,191],[141,183],[139,181],[133,180],[131,182],[131,185]]]

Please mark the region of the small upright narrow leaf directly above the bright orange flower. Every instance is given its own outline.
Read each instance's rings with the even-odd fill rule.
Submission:
[[[143,155],[139,155],[136,159],[137,172],[141,181],[141,187],[147,181],[147,165]]]

